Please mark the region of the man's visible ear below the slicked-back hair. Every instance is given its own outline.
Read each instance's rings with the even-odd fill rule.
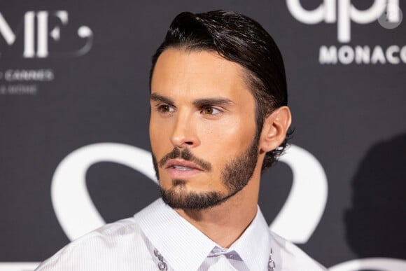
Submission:
[[[260,151],[268,152],[277,148],[285,139],[292,121],[288,106],[281,106],[264,120],[260,137]]]

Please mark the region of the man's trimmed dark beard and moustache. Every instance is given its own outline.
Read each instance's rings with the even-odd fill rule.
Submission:
[[[221,172],[221,181],[223,181],[223,184],[228,189],[227,195],[216,191],[186,193],[185,191],[182,191],[186,181],[174,179],[172,180],[172,188],[167,190],[162,189],[162,187],[160,188],[162,200],[174,209],[207,209],[225,202],[225,200],[228,200],[244,188],[251,179],[258,161],[258,142],[259,134],[255,134],[251,146],[249,146],[244,153],[237,156],[237,158],[228,162],[223,168]],[[172,158],[190,160],[201,167],[204,165],[204,167],[211,169],[209,162],[195,158],[188,148],[182,151],[180,151],[179,148],[174,148],[171,153],[168,153],[160,160],[159,165],[162,167],[168,159]],[[159,179],[158,162],[155,155],[153,155],[153,164],[157,178]]]

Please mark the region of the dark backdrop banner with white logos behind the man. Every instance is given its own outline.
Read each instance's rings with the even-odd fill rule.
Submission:
[[[263,174],[269,227],[331,271],[406,270],[406,25],[399,0],[1,1],[0,270],[159,197],[151,55],[181,11],[258,20],[295,133]],[[230,139],[232,140],[232,139]]]

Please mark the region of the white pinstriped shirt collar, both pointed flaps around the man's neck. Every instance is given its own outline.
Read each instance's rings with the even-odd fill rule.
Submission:
[[[220,247],[161,199],[134,218],[174,270],[197,270],[214,247]],[[227,250],[236,251],[250,270],[263,270],[269,260],[269,236],[268,225],[258,207],[251,224]]]

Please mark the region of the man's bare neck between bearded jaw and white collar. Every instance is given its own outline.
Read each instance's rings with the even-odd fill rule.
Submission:
[[[228,248],[253,221],[258,209],[258,191],[259,176],[251,178],[239,193],[218,206],[176,211],[216,244]]]

